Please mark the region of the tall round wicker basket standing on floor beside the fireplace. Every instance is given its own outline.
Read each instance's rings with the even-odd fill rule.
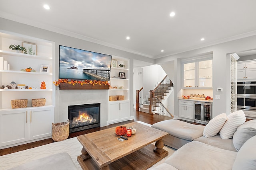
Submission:
[[[69,136],[69,120],[66,122],[52,123],[52,140],[64,141]]]

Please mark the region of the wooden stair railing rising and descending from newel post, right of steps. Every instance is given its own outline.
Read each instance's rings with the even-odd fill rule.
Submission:
[[[150,95],[149,95],[149,101],[150,101],[149,113],[153,114],[154,112],[156,112],[157,114],[160,114],[160,115],[165,115],[165,116],[173,117],[172,113],[170,113],[170,111],[163,105],[161,100],[157,96],[154,95],[156,90],[159,90],[163,86],[173,87],[172,80],[170,80],[168,75],[166,75],[163,78],[163,80],[156,86],[156,88],[154,88],[154,90],[150,90]]]

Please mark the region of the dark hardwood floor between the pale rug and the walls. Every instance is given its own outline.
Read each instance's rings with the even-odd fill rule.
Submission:
[[[145,123],[148,123],[148,124],[152,125],[152,124],[157,123],[159,121],[168,120],[168,119],[172,119],[172,117],[156,115],[156,114],[150,115],[148,113],[136,111],[136,115],[135,115],[134,120],[124,121],[124,122],[121,122],[121,123],[115,123],[115,124],[111,124],[111,125],[104,126],[104,127],[96,127],[96,128],[87,129],[87,130],[84,130],[84,131],[70,133],[68,138],[77,137],[79,135],[84,135],[86,133],[100,131],[100,130],[108,129],[108,128],[111,128],[111,127],[116,127],[116,126],[123,125],[123,124],[126,124],[126,123],[130,123],[130,122],[133,122],[133,121],[142,121],[142,122],[145,122]],[[46,145],[46,144],[53,143],[53,142],[54,141],[50,138],[50,139],[45,139],[45,140],[42,140],[42,141],[36,141],[36,142],[32,142],[32,143],[27,143],[27,144],[24,144],[24,145],[10,147],[10,148],[6,148],[6,149],[1,149],[0,150],[0,156],[10,154],[10,153],[14,153],[14,152],[18,152],[18,151],[21,151],[21,150],[26,150],[26,149],[30,149],[30,148],[34,148],[34,147],[39,147],[41,145]]]

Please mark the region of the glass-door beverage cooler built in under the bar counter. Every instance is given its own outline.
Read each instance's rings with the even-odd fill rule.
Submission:
[[[206,125],[212,119],[211,102],[194,102],[194,122]]]

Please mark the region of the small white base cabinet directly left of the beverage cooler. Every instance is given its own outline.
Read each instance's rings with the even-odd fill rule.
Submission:
[[[194,119],[194,102],[180,100],[179,117]]]

